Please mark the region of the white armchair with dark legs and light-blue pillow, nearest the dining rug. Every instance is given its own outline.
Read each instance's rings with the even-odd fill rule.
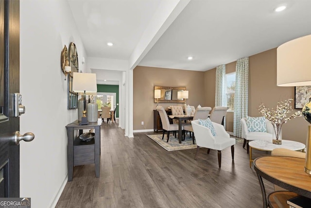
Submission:
[[[207,126],[200,125],[199,120],[191,121],[193,132],[196,140],[196,153],[194,159],[197,158],[199,154],[199,148],[205,147],[207,148],[207,154],[209,151],[217,150],[218,151],[218,166],[221,168],[222,162],[222,150],[231,146],[231,157],[234,160],[234,145],[235,139],[230,138],[230,135],[225,131],[223,125],[211,122],[209,119],[203,120]],[[209,123],[208,123],[209,122]],[[214,134],[214,135],[213,135]]]

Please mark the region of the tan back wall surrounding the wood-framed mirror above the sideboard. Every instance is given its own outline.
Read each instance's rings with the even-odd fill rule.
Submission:
[[[137,66],[133,72],[133,129],[154,129],[154,86],[186,87],[187,104],[205,106],[204,72]],[[214,98],[215,99],[215,98]],[[159,103],[165,109],[183,103]],[[141,125],[141,121],[144,125]]]

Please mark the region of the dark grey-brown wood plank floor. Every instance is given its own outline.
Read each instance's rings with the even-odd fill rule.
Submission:
[[[101,128],[101,170],[94,165],[74,167],[56,208],[261,208],[262,196],[255,170],[242,144],[222,151],[202,148],[165,151],[146,132],[124,136],[118,124]],[[148,132],[147,134],[152,134]],[[254,157],[269,152],[253,151]],[[267,192],[272,184],[264,181]]]

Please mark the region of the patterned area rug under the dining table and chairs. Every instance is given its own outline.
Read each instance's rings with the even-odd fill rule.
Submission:
[[[164,138],[162,140],[162,134],[152,134],[147,135],[149,138],[154,140],[158,145],[160,145],[164,150],[166,151],[175,151],[175,150],[187,150],[187,149],[194,149],[196,148],[195,140],[194,144],[192,143],[192,138],[190,138],[190,135],[187,134],[185,141],[182,141],[181,144],[178,143],[178,136],[175,138],[173,134],[170,134],[169,142],[167,141],[167,134],[164,134]],[[232,136],[231,136],[232,137]],[[235,138],[236,143],[243,143],[243,139],[241,138]]]

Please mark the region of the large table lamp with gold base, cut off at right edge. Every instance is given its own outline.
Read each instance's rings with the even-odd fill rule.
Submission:
[[[288,41],[277,48],[276,85],[281,87],[311,85],[311,35]],[[311,123],[311,98],[302,108]],[[305,172],[311,174],[311,125],[308,125]]]

